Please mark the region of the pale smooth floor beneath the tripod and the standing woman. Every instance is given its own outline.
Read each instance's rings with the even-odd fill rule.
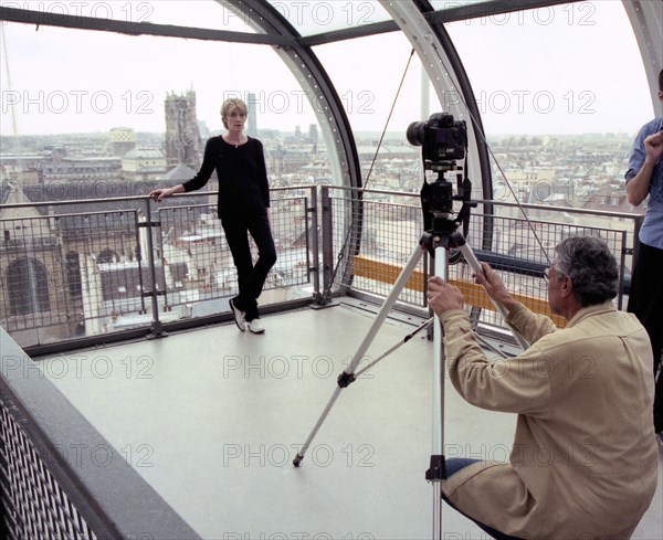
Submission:
[[[40,366],[206,540],[431,538],[424,332],[343,390],[303,466],[292,465],[372,317],[304,309],[263,317],[262,336],[229,324]],[[385,324],[367,361],[412,329]],[[449,382],[445,394],[446,456],[506,460],[515,416],[466,404]],[[635,539],[663,539],[662,478]],[[448,508],[443,532],[488,538]]]

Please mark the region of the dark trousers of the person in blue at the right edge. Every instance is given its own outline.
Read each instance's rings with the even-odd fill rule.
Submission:
[[[631,276],[628,310],[646,329],[654,351],[654,374],[663,350],[663,250],[640,244]],[[663,432],[663,375],[659,377],[654,398],[654,428]]]

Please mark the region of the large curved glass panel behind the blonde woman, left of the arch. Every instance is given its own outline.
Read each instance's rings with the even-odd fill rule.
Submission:
[[[304,292],[314,248],[311,203],[293,186],[332,181],[329,162],[337,158],[272,47],[49,27],[35,32],[15,23],[1,31],[0,201],[44,202],[39,210],[0,209],[0,260],[17,253],[25,260],[10,272],[17,294],[7,279],[0,287],[3,327],[49,341],[150,324],[143,296],[152,289],[150,245],[137,227],[146,201],[126,198],[191,179],[207,139],[225,131],[220,107],[231,96],[249,102],[246,133],[263,142],[271,187],[280,188],[272,192],[278,262],[264,301],[311,297]],[[227,297],[236,292],[217,198],[206,193],[217,188],[213,174],[200,192],[160,204],[178,211],[171,220],[178,226],[156,218],[152,207],[152,220],[164,224],[154,235],[154,287],[167,292],[158,303],[161,320],[227,311]],[[110,197],[117,200],[86,201]],[[65,200],[80,203],[49,204]]]

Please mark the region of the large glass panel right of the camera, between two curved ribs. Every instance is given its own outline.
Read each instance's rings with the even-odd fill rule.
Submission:
[[[644,211],[628,203],[623,176],[635,133],[655,114],[621,2],[505,13],[448,30],[497,159],[496,200],[514,202],[513,189],[522,202]]]

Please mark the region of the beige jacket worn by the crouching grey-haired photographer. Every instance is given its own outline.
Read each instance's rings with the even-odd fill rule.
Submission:
[[[656,488],[649,337],[612,303],[562,330],[518,304],[508,321],[533,346],[488,362],[463,310],[446,311],[450,379],[470,403],[518,413],[508,464],[481,462],[444,481],[464,513],[524,539],[628,539]]]

